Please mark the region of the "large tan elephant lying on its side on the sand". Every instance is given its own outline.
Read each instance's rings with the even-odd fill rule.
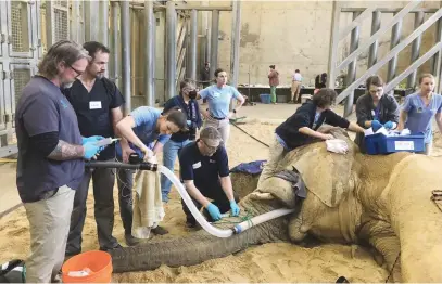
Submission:
[[[348,133],[329,130],[346,141],[349,152],[327,151],[315,142],[288,152],[278,171],[296,170],[306,188],[296,198],[292,184],[270,177],[243,184],[242,215],[257,216],[293,208],[288,216],[254,225],[227,238],[200,230],[186,237],[152,241],[111,250],[114,272],[153,270],[162,264],[192,266],[226,257],[251,245],[270,242],[359,244],[387,264],[392,280],[442,282],[442,214],[430,199],[442,188],[442,158],[399,152],[362,154]],[[233,189],[239,186],[232,177]],[[215,223],[216,225],[216,223]],[[218,228],[225,228],[222,223]]]

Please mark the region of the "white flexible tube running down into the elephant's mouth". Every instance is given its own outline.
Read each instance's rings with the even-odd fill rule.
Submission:
[[[243,221],[235,228],[229,229],[229,230],[220,230],[216,227],[213,227],[211,223],[205,220],[205,218],[201,215],[200,210],[198,210],[197,206],[193,204],[192,199],[190,198],[189,194],[187,193],[185,186],[182,183],[178,180],[178,178],[168,168],[164,166],[159,166],[159,171],[163,173],[164,176],[167,177],[174,183],[175,188],[177,189],[179,195],[181,195],[181,198],[185,201],[187,207],[189,208],[190,212],[193,215],[194,219],[197,222],[201,224],[201,227],[210,234],[217,236],[217,237],[229,237],[233,233],[239,234],[253,225],[266,222],[268,220],[291,214],[294,211],[294,209],[287,209],[287,208],[281,208],[281,209],[276,209],[260,216],[255,216],[252,219],[248,221]]]

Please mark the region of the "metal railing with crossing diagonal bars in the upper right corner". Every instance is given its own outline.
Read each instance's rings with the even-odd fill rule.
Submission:
[[[388,64],[387,86],[386,92],[392,91],[402,80],[407,78],[407,88],[415,87],[417,69],[431,60],[431,73],[441,80],[441,16],[442,9],[418,9],[421,0],[413,0],[408,2],[403,9],[376,9],[376,8],[342,8],[340,1],[333,1],[332,12],[332,27],[330,36],[330,51],[329,51],[329,66],[328,66],[328,87],[334,88],[337,74],[348,68],[346,74],[346,88],[338,95],[337,103],[345,100],[344,116],[349,116],[353,112],[354,90],[363,83],[369,76],[379,72],[379,69]],[[340,14],[353,13],[352,23],[339,30]],[[394,16],[387,23],[382,24],[381,13],[394,13]],[[415,14],[414,31],[406,38],[401,40],[402,21],[409,13]],[[425,13],[432,13],[432,15],[424,22]],[[363,44],[359,44],[359,28],[362,22],[369,15],[372,16],[371,21],[371,36]],[[421,35],[431,25],[437,23],[437,35],[434,46],[419,57]],[[380,60],[378,60],[378,46],[379,39],[387,31],[392,30],[390,51]],[[350,39],[350,54],[340,63],[338,63],[338,46],[349,33]],[[409,65],[400,75],[396,76],[397,68],[397,54],[408,44],[412,43],[412,55]],[[356,78],[356,64],[357,57],[368,50],[367,70]],[[441,83],[438,83],[440,90]]]

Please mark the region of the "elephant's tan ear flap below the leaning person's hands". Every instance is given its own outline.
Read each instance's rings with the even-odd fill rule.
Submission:
[[[346,154],[328,152],[326,143],[321,141],[291,151],[280,165],[286,169],[298,169],[307,190],[327,206],[336,207],[354,186],[352,166],[357,150],[342,129],[331,129],[329,132],[348,143]]]

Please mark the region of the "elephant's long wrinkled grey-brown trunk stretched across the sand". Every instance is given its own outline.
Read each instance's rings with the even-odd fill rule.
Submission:
[[[219,238],[201,231],[186,237],[151,242],[134,247],[111,250],[114,272],[153,270],[169,267],[194,266],[205,260],[226,257],[250,245],[270,242],[260,233],[258,227]]]

